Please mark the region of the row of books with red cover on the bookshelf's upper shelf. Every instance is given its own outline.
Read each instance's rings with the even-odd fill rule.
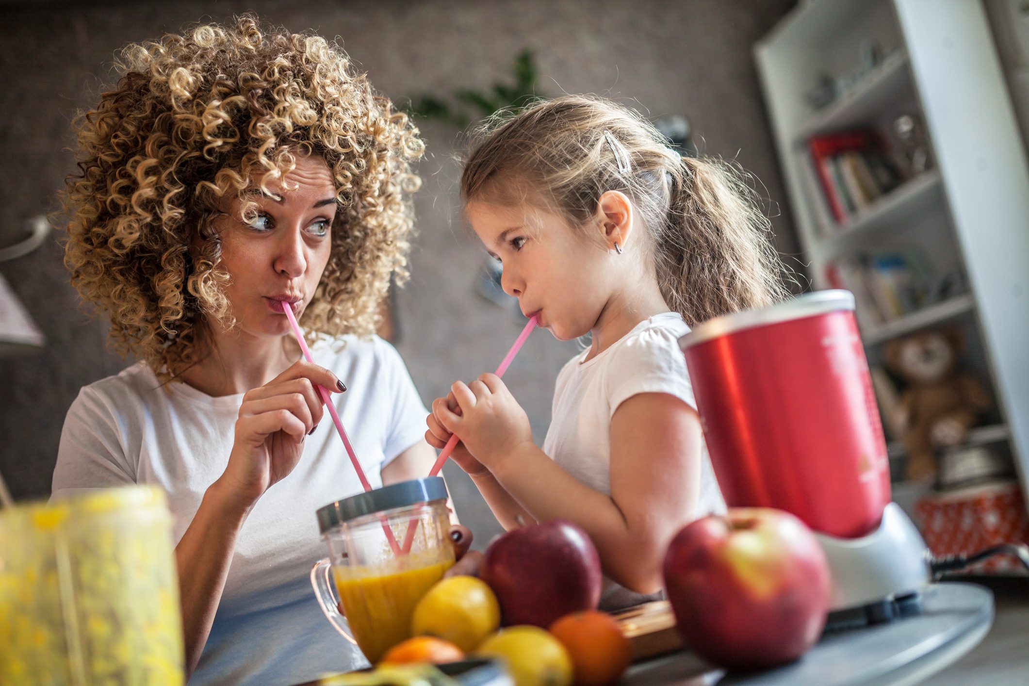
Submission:
[[[844,225],[902,181],[882,137],[871,129],[808,139],[808,154],[820,197],[838,226]]]

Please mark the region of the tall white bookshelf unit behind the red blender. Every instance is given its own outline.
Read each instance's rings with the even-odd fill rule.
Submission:
[[[820,110],[810,105],[805,95],[824,74],[857,69],[867,40],[884,59],[832,103]],[[969,442],[1006,442],[1025,491],[1029,164],[982,3],[802,0],[754,46],[754,57],[815,287],[830,287],[826,266],[835,260],[884,246],[925,247],[929,259],[962,273],[966,289],[864,326],[862,341],[875,360],[898,336],[947,322],[968,327],[973,340],[966,356],[989,376],[999,405],[999,421],[977,429]],[[925,121],[934,165],[848,221],[833,222],[811,169],[810,137],[883,130],[912,111]]]

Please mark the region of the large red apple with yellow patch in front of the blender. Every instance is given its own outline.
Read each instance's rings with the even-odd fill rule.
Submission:
[[[788,512],[731,509],[682,529],[665,555],[679,633],[731,670],[794,660],[818,641],[829,570],[811,530]]]

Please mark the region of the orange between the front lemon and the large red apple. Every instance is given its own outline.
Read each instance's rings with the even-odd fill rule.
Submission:
[[[633,651],[614,618],[588,610],[565,615],[551,624],[572,658],[577,686],[613,684],[629,667]]]

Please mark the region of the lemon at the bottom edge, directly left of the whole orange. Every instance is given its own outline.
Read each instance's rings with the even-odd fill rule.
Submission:
[[[556,638],[538,626],[511,626],[487,639],[476,655],[503,661],[514,686],[569,686],[572,660]]]

